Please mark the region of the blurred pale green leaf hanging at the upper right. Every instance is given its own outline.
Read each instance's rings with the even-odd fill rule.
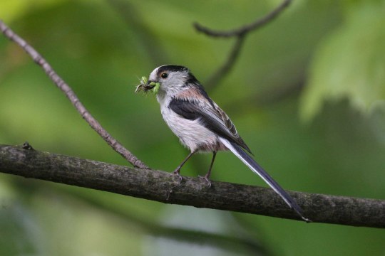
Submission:
[[[347,98],[362,112],[384,106],[385,4],[360,4],[317,49],[302,95],[300,114],[309,121],[325,100]]]

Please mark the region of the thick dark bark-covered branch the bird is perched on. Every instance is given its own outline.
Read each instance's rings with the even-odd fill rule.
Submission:
[[[84,188],[145,198],[162,203],[232,210],[299,220],[271,188],[178,178],[164,171],[135,169],[88,159],[0,145],[0,172],[26,178],[65,183]],[[318,223],[385,228],[385,201],[289,192]]]

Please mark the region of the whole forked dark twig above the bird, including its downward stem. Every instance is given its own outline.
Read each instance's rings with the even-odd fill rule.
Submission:
[[[199,23],[194,23],[193,26],[195,29],[199,32],[204,33],[206,36],[211,36],[215,38],[230,38],[230,37],[236,37],[237,41],[235,42],[234,46],[232,47],[232,50],[230,51],[229,57],[227,57],[227,60],[225,60],[225,63],[220,66],[220,68],[217,69],[213,73],[213,75],[210,76],[210,78],[205,82],[205,87],[211,88],[215,87],[220,80],[222,80],[225,75],[229,73],[229,71],[232,69],[232,67],[235,65],[235,62],[237,60],[238,55],[240,55],[240,50],[243,46],[243,43],[245,42],[245,37],[251,32],[257,30],[257,28],[260,28],[264,26],[265,24],[269,23],[270,21],[274,20],[279,14],[282,13],[284,9],[289,6],[291,3],[291,0],[284,0],[282,4],[277,6],[276,9],[271,11],[269,14],[262,18],[258,18],[256,21],[241,26],[240,28],[235,28],[230,31],[216,31],[211,28],[207,28],[205,26],[200,25]]]

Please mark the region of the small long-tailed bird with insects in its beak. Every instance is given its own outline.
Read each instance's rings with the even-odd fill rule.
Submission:
[[[252,151],[240,137],[230,117],[207,95],[202,84],[183,65],[161,65],[148,79],[143,77],[135,92],[152,90],[160,105],[160,112],[168,127],[190,150],[190,154],[175,169],[180,169],[197,152],[212,152],[210,167],[204,178],[209,186],[210,174],[217,151],[231,151],[255,174],[260,176],[302,220],[296,201],[252,158]]]

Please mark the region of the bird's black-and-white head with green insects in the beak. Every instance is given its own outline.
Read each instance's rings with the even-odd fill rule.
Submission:
[[[195,80],[188,68],[180,65],[161,65],[150,73],[148,80],[142,78],[136,92],[152,90],[155,94],[174,95],[183,90],[192,79]]]

